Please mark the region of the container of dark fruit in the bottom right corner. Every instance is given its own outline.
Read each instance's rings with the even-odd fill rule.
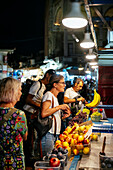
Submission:
[[[113,153],[99,154],[99,164],[101,170],[113,170]]]

